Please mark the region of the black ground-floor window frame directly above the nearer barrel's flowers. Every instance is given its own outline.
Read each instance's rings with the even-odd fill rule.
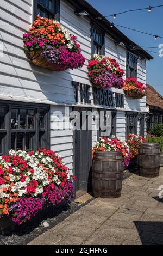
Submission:
[[[117,132],[117,111],[116,110],[112,110],[112,109],[98,109],[99,112],[99,117],[100,117],[100,112],[104,111],[105,115],[107,111],[111,111],[111,133],[109,136],[106,136],[108,138],[111,138],[112,135],[116,136],[116,132]],[[100,119],[99,119],[99,129],[97,131],[97,140],[99,139],[99,137],[101,137],[101,133],[104,132],[100,129]]]

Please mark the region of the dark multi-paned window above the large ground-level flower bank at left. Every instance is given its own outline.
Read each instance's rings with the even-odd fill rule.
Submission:
[[[49,148],[48,115],[46,105],[0,103],[0,154]]]

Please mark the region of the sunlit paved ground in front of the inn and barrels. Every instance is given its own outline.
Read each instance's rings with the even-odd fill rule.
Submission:
[[[130,176],[120,198],[93,200],[29,245],[163,245],[160,170],[157,178]]]

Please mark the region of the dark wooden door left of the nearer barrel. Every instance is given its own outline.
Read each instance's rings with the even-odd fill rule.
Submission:
[[[80,113],[80,130],[75,134],[75,173],[76,173],[76,191],[88,191],[90,186],[90,168],[92,165],[92,131],[88,129],[89,117],[82,115],[84,111],[90,111],[88,108],[74,108],[74,111]],[[86,130],[82,125],[86,124]]]

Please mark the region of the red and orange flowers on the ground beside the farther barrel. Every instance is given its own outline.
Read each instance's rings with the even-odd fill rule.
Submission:
[[[146,142],[146,139],[140,135],[129,133],[126,139],[126,143],[130,149],[130,159],[134,159],[138,155],[138,148],[141,143]]]

